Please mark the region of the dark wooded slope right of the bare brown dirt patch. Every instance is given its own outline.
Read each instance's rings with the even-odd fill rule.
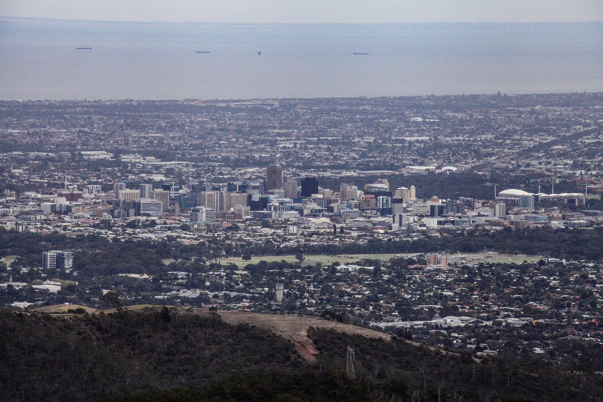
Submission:
[[[348,345],[356,351],[356,372],[377,380],[394,376],[437,387],[471,389],[499,398],[541,401],[598,401],[603,378],[587,365],[555,365],[543,360],[482,359],[476,363],[467,352],[433,353],[426,347],[409,347],[401,338],[385,342],[318,328],[309,331],[319,351],[318,359],[346,357]]]

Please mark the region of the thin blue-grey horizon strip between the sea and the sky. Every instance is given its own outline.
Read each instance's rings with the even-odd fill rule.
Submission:
[[[15,17],[0,15],[0,19],[15,20],[40,20],[40,21],[72,21],[72,22],[106,22],[124,24],[219,24],[219,25],[563,25],[563,24],[603,24],[603,20],[592,21],[540,21],[540,22],[517,22],[517,21],[464,21],[464,22],[216,22],[216,21],[135,21],[135,20],[103,20],[103,19],[71,19],[71,18],[49,18],[49,17]]]

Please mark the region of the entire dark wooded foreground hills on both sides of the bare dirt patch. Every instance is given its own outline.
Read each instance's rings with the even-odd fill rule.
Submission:
[[[291,342],[267,330],[226,324],[216,312],[200,316],[175,307],[69,317],[2,309],[0,333],[5,401],[594,402],[603,397],[603,380],[587,365],[478,362],[467,353],[441,353],[399,338],[314,328],[309,337],[319,351],[318,363],[306,363]],[[356,355],[353,381],[337,372],[345,369],[348,346]],[[289,375],[300,369],[323,374]],[[253,374],[258,371],[279,373]],[[224,381],[173,389],[215,380]],[[165,391],[138,394],[150,387]]]

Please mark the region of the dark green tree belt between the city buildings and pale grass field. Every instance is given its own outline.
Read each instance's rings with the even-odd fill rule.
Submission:
[[[204,271],[206,260],[217,259],[224,252],[227,256],[285,255],[285,254],[382,254],[382,253],[426,253],[437,250],[453,250],[473,253],[495,250],[508,254],[542,254],[561,259],[600,260],[603,258],[603,227],[593,230],[571,230],[569,228],[534,228],[530,230],[470,230],[453,233],[451,236],[425,237],[413,241],[387,241],[367,234],[367,242],[346,242],[341,245],[299,245],[277,247],[267,240],[262,245],[239,243],[224,245],[218,239],[209,239],[197,245],[182,245],[170,242],[111,242],[99,236],[70,237],[58,232],[39,234],[16,233],[0,229],[0,256],[19,256],[13,266],[36,267],[42,265],[42,252],[47,250],[71,249],[75,252],[74,270],[81,274],[115,275],[123,272],[136,274],[162,274],[166,272],[163,259],[195,260],[192,267]],[[196,267],[196,268],[195,268]],[[5,269],[0,267],[0,269]],[[168,271],[170,269],[167,269]]]

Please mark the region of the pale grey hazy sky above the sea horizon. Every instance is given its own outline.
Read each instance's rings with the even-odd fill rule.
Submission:
[[[0,15],[240,23],[576,22],[602,21],[603,0],[0,0]]]

